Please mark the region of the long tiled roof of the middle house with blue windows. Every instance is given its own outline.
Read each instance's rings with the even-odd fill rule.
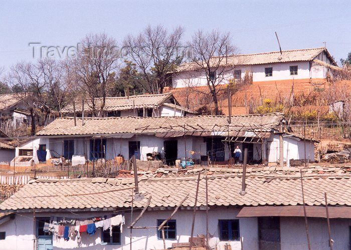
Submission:
[[[231,131],[260,129],[271,131],[284,118],[282,113],[248,114],[232,116]],[[162,117],[105,117],[77,118],[74,126],[73,117],[57,118],[37,133],[38,136],[53,135],[93,135],[119,133],[166,133],[186,131],[227,131],[228,116],[162,116]]]

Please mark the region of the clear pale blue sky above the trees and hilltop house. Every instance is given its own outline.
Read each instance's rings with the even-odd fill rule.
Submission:
[[[98,3],[97,3],[98,2]],[[241,53],[324,46],[335,57],[351,52],[351,1],[0,1],[0,66],[31,60],[30,42],[75,46],[87,33],[117,41],[146,25],[232,34]]]

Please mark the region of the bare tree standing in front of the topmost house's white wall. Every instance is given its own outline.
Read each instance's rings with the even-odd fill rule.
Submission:
[[[228,55],[237,54],[237,48],[232,45],[229,33],[221,33],[217,30],[205,33],[197,31],[188,43],[190,49],[190,63],[183,70],[193,72],[189,75],[189,84],[194,85],[194,79],[204,79],[210,95],[212,96],[215,113],[220,114],[218,97],[220,84],[229,83],[233,79],[234,69],[243,62],[238,59],[228,61]],[[194,75],[192,75],[194,74]],[[196,91],[200,89],[194,88]],[[201,91],[209,94],[207,91]]]

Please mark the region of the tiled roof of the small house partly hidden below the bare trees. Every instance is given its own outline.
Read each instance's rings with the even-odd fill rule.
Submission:
[[[117,111],[117,110],[128,110],[133,108],[152,108],[157,107],[162,104],[168,98],[172,96],[172,93],[163,93],[163,94],[144,94],[144,95],[131,95],[128,97],[106,97],[105,102],[105,111]],[[100,102],[102,99],[96,98],[95,105],[99,108]],[[92,102],[85,102],[84,111],[92,110]],[[82,101],[76,101],[76,111],[82,111]],[[72,113],[73,112],[73,104],[67,105],[65,108],[61,110],[63,113]]]

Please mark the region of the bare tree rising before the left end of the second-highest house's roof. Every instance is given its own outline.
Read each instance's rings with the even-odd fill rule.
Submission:
[[[117,42],[105,33],[89,34],[80,45],[79,56],[67,60],[68,80],[83,90],[93,113],[102,116],[111,75],[120,64]]]

